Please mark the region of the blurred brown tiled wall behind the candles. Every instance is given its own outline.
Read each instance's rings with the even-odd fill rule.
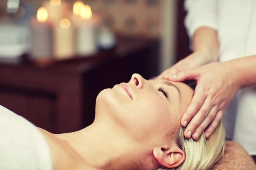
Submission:
[[[0,16],[7,0],[0,0]],[[38,5],[44,0],[21,0]],[[71,4],[75,0],[67,0]],[[106,26],[128,35],[160,36],[161,0],[82,0],[91,6],[93,13],[102,17]],[[70,6],[72,8],[72,6]]]

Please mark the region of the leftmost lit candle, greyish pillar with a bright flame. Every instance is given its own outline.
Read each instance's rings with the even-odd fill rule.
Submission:
[[[52,56],[52,25],[49,23],[47,9],[38,9],[37,17],[31,19],[32,56],[45,58]]]

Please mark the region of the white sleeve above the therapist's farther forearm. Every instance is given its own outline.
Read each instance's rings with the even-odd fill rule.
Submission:
[[[184,8],[187,11],[185,26],[190,38],[202,26],[218,31],[217,0],[186,0]]]

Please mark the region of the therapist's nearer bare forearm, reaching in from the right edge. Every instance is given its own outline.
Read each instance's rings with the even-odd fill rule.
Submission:
[[[239,88],[256,85],[256,55],[233,59],[227,62],[233,69],[235,82]]]

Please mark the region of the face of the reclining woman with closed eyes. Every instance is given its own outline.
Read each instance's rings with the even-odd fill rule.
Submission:
[[[155,144],[169,140],[180,126],[193,94],[184,83],[160,78],[146,80],[133,74],[128,83],[101,91],[96,100],[96,116],[100,116],[99,110],[105,112],[135,142]]]

